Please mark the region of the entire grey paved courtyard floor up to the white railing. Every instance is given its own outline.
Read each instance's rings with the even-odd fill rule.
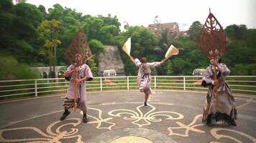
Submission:
[[[0,142],[256,143],[256,96],[235,94],[237,127],[201,122],[206,93],[155,91],[149,107],[137,91],[88,93],[88,117],[64,121],[63,95],[0,102]]]

